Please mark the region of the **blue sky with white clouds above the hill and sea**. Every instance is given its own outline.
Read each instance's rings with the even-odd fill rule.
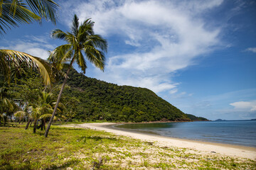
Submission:
[[[56,26],[11,28],[0,49],[46,59],[65,44],[50,32],[70,31],[77,14],[80,22],[95,21],[95,33],[108,42],[105,71],[87,62],[87,77],[151,89],[184,113],[210,120],[256,118],[256,1],[55,1]]]

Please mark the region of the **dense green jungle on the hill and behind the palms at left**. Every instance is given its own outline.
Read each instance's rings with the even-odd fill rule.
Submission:
[[[4,80],[2,84],[3,82]],[[46,89],[36,72],[28,69],[26,74],[25,72],[19,74],[5,91],[9,98],[24,108],[30,103],[40,103],[43,90],[50,94],[46,103],[56,101],[62,82],[63,78],[60,77],[51,89]],[[86,77],[75,69],[70,71],[61,103],[63,108],[58,112],[57,118],[62,121],[106,120],[139,123],[190,121],[197,118],[184,114],[149,89],[117,86],[117,84]]]

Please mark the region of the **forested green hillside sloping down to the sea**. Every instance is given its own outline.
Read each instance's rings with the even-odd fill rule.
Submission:
[[[85,77],[75,69],[69,74],[68,87],[63,96],[66,99],[75,97],[79,101],[73,113],[80,120],[190,120],[186,114],[149,89],[117,86]]]

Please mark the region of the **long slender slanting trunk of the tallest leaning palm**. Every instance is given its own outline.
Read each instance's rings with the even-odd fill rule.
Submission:
[[[63,94],[63,90],[64,90],[64,87],[65,87],[65,84],[67,83],[67,80],[68,80],[68,73],[70,72],[70,69],[71,69],[72,64],[73,64],[74,61],[75,61],[75,57],[73,57],[73,59],[72,59],[71,62],[70,62],[70,66],[68,67],[68,71],[67,71],[67,73],[66,73],[66,75],[65,75],[65,79],[64,79],[64,81],[63,81],[63,85],[61,86],[60,93],[59,93],[59,95],[58,95],[58,99],[57,99],[57,102],[56,102],[55,107],[54,107],[54,110],[53,110],[53,115],[50,117],[50,121],[49,121],[48,126],[47,126],[47,128],[46,128],[46,132],[45,132],[45,135],[44,135],[45,137],[48,136],[48,132],[49,132],[49,130],[50,130],[50,125],[53,123],[53,118],[54,118],[55,113],[56,113],[56,111],[57,111],[58,103],[60,103],[61,95]]]

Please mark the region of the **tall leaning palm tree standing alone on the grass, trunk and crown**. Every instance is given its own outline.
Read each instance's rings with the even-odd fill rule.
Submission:
[[[51,116],[48,127],[46,128],[45,137],[48,136],[50,125],[53,122],[53,118],[57,111],[58,103],[60,102],[60,97],[63,93],[63,89],[68,79],[68,73],[70,72],[73,62],[77,62],[78,66],[85,74],[85,69],[87,68],[84,57],[85,55],[87,60],[95,64],[96,67],[104,70],[104,52],[107,52],[107,41],[100,35],[95,35],[93,26],[94,22],[90,19],[87,19],[83,23],[79,24],[78,16],[75,15],[73,18],[73,24],[71,26],[71,32],[65,33],[59,29],[53,30],[52,32],[53,38],[58,38],[67,42],[67,44],[60,45],[59,47],[55,48],[54,57],[60,61],[61,64],[70,60],[70,64],[68,71],[65,74],[65,79],[60,89],[53,115]]]

